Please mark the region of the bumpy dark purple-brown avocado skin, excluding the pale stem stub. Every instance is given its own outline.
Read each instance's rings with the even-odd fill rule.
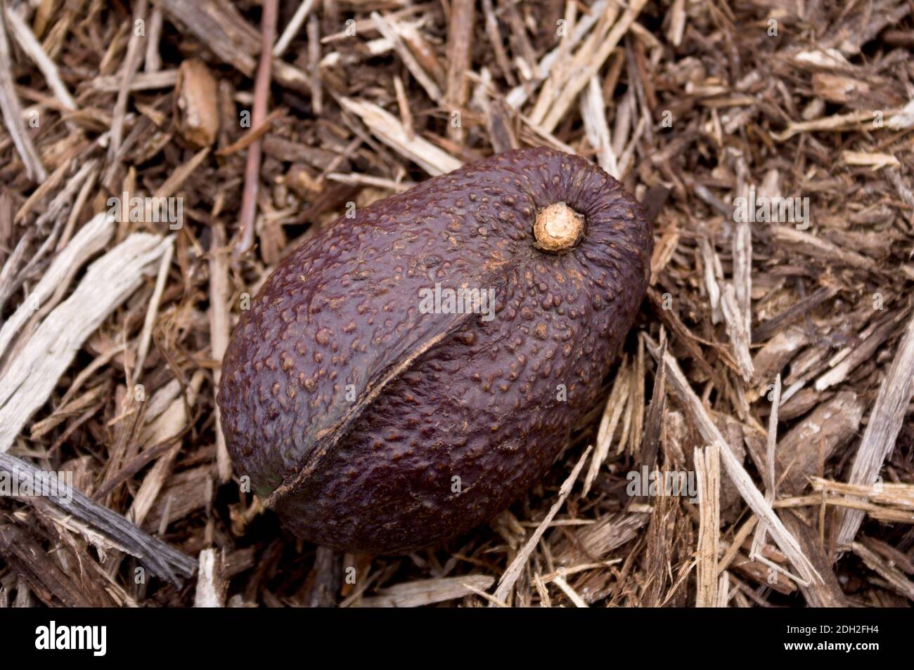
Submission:
[[[534,220],[557,202],[585,233],[544,252]],[[652,248],[620,183],[548,149],[340,218],[282,261],[232,335],[218,404],[237,474],[294,533],[337,550],[403,553],[484,523],[596,401]],[[494,288],[494,319],[421,313],[436,282]]]

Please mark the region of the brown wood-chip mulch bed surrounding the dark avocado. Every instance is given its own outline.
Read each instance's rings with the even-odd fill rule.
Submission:
[[[81,494],[0,497],[0,606],[914,600],[910,2],[5,8],[0,474]],[[447,546],[295,539],[218,430],[240,310],[348,204],[525,146],[654,223],[600,405]],[[632,495],[655,468],[700,496]]]

